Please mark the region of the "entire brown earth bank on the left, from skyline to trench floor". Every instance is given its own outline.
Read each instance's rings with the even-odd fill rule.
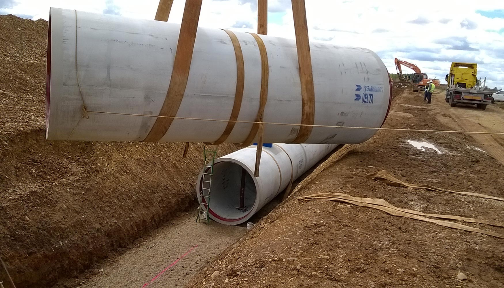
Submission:
[[[179,143],[46,141],[46,35],[44,20],[0,16],[0,256],[22,287],[77,275],[195,205],[203,164],[201,145],[181,158]]]

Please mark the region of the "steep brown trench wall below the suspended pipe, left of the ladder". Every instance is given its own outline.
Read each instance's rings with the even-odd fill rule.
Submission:
[[[50,142],[43,127],[3,139],[0,256],[19,287],[93,273],[195,207],[203,145],[182,158],[179,143]]]

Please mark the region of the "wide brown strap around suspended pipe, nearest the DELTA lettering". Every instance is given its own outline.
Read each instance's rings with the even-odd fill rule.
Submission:
[[[301,124],[313,125],[315,119],[315,88],[311,68],[310,42],[304,0],[291,0],[294,29],[296,32],[297,60],[301,81]],[[312,126],[301,126],[292,143],[304,143],[311,134]]]

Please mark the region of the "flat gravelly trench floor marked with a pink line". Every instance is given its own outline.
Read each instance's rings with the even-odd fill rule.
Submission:
[[[97,265],[91,273],[61,281],[55,287],[181,287],[246,231],[243,226],[205,225],[195,219],[196,210],[174,218],[151,237]]]

